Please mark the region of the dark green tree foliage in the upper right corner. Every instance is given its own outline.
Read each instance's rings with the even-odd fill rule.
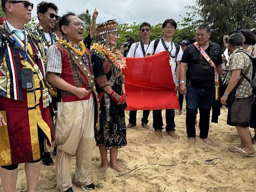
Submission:
[[[236,27],[252,28],[256,25],[256,0],[194,0],[189,8],[201,16],[200,23],[211,28],[220,28],[211,39],[222,44],[223,34],[228,34]]]

